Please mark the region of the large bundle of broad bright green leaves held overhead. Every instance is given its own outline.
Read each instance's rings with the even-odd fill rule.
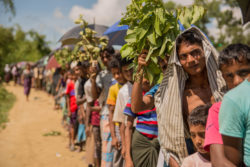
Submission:
[[[120,23],[129,26],[125,37],[127,43],[121,49],[122,57],[134,60],[131,67],[136,72],[138,56],[146,50],[146,77],[150,83],[160,83],[162,73],[158,57],[171,54],[175,39],[181,33],[178,21],[189,28],[204,13],[205,9],[200,6],[167,11],[161,0],[132,0]]]

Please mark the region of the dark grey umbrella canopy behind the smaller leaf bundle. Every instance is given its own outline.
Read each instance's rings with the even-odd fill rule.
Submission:
[[[90,24],[88,25],[89,28],[96,31],[96,36],[101,37],[102,34],[107,30],[107,26],[104,25],[98,25],[98,24]],[[80,32],[83,29],[80,26],[76,26],[72,29],[70,29],[68,32],[66,32],[60,39],[59,42],[62,42],[62,46],[64,45],[72,45],[76,44],[80,40]]]

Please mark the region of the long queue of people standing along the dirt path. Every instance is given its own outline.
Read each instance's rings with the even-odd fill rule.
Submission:
[[[89,166],[250,166],[249,46],[218,53],[198,28],[187,29],[158,59],[160,84],[145,77],[146,50],[136,71],[111,46],[100,58],[53,80],[69,149],[85,147]]]

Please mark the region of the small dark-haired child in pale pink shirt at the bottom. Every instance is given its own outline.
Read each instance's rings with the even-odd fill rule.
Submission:
[[[186,157],[182,167],[211,167],[210,154],[203,148],[205,127],[210,104],[196,107],[188,116],[191,139],[197,152]]]

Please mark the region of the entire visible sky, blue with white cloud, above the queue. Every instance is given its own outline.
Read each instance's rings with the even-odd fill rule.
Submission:
[[[75,26],[74,20],[84,15],[90,24],[111,26],[122,17],[130,0],[13,0],[16,16],[4,13],[0,7],[0,25],[10,27],[19,24],[24,31],[35,30],[46,35],[51,49],[60,46],[57,41],[69,29]],[[168,0],[163,0],[168,1]],[[193,0],[174,0],[175,3],[190,5]],[[223,9],[222,9],[223,10]],[[239,9],[234,12],[241,17]],[[12,19],[9,19],[9,18]],[[208,25],[212,34],[218,33],[217,22]]]

